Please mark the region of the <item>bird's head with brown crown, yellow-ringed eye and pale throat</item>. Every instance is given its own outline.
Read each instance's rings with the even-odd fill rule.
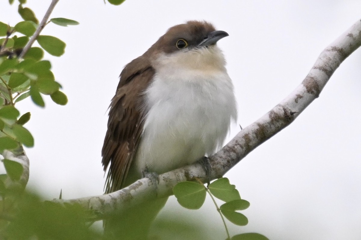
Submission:
[[[216,46],[229,36],[205,21],[188,21],[169,28],[145,54],[155,69],[201,69],[224,71],[225,59]]]

